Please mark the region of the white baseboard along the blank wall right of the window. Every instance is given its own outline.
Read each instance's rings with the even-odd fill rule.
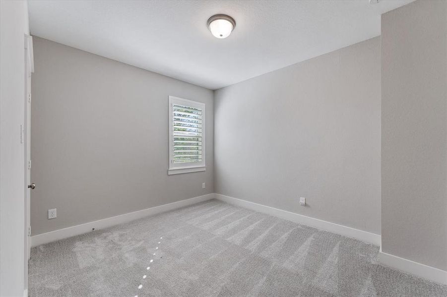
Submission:
[[[326,231],[340,234],[343,236],[352,237],[357,240],[367,242],[367,243],[370,243],[370,244],[373,244],[376,246],[381,245],[382,237],[378,234],[354,229],[351,227],[346,227],[343,225],[338,225],[338,224],[331,223],[331,222],[326,222],[323,220],[308,217],[308,216],[301,215],[298,213],[294,213],[294,212],[290,212],[287,210],[282,210],[282,209],[278,209],[278,208],[274,208],[274,207],[270,207],[270,206],[266,206],[266,205],[238,199],[238,198],[233,198],[233,197],[229,197],[229,196],[225,196],[225,195],[221,195],[221,194],[215,194],[215,195],[216,195],[216,197],[215,197],[216,199],[225,201],[227,203],[242,206],[242,207],[249,208],[249,209],[252,209],[255,211],[259,211],[259,212],[270,214],[270,215],[273,215],[276,217],[280,217],[282,219],[286,219],[286,220],[289,220],[292,222],[308,225],[311,227],[326,230]]]

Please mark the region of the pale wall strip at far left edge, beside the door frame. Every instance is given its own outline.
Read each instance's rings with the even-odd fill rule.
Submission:
[[[27,1],[0,1],[0,296],[23,296]]]

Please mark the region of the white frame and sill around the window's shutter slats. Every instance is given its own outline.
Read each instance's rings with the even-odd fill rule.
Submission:
[[[187,106],[202,109],[202,161],[191,163],[174,163],[174,136],[173,136],[173,105],[185,104]],[[205,103],[169,96],[169,167],[168,175],[205,171]]]

